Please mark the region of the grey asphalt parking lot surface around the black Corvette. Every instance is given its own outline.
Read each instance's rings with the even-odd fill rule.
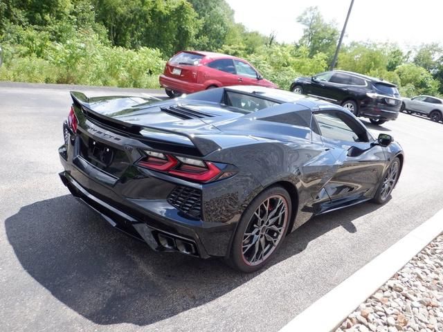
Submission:
[[[406,151],[386,205],[312,219],[252,275],[218,259],[152,252],[78,203],[58,178],[68,91],[0,83],[3,331],[278,331],[443,208],[443,124],[401,113],[382,127],[364,121]]]

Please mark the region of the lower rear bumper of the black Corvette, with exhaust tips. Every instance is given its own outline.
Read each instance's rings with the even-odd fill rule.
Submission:
[[[228,255],[233,225],[187,219],[164,201],[120,196],[66,160],[64,146],[60,147],[59,154],[65,169],[59,174],[64,185],[114,228],[145,241],[156,251],[181,252],[201,258]]]

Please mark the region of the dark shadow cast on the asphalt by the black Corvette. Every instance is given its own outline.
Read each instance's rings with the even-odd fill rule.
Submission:
[[[304,250],[336,227],[376,210],[363,203],[331,212],[289,234],[272,264]],[[6,219],[8,241],[21,265],[54,297],[96,324],[152,324],[201,306],[253,279],[223,259],[153,252],[116,232],[72,196],[24,206]]]

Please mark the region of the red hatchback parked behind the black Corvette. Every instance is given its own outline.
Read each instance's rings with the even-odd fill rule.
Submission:
[[[229,85],[277,88],[246,60],[230,55],[183,50],[172,57],[160,75],[160,85],[170,97]]]

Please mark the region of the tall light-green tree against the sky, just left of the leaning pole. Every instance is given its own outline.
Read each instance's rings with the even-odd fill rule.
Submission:
[[[325,21],[318,7],[307,8],[297,21],[304,26],[299,43],[307,46],[310,57],[317,53],[325,53],[328,57],[334,55],[340,32],[334,22]]]

